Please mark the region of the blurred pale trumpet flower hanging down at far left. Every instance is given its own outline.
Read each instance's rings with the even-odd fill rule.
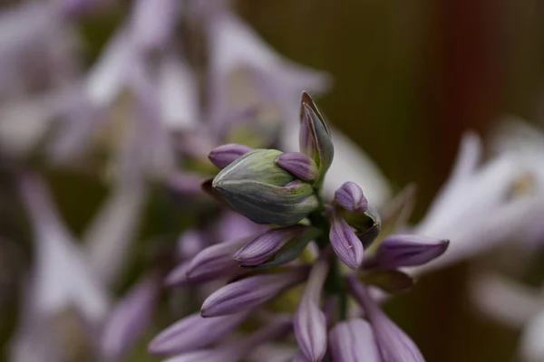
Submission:
[[[34,229],[36,264],[31,282],[39,315],[75,307],[90,322],[100,322],[108,310],[106,292],[62,224],[44,181],[24,174],[19,186]]]

